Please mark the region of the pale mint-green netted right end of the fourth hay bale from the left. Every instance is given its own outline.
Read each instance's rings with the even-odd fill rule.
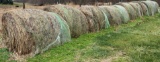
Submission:
[[[123,23],[127,23],[130,20],[127,10],[120,5],[114,5],[114,6],[120,11],[121,16],[123,17],[122,18]]]

